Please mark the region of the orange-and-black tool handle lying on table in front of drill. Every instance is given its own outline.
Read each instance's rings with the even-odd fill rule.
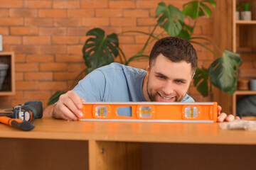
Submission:
[[[18,128],[23,131],[29,131],[35,128],[35,125],[31,122],[26,122],[16,118],[9,118],[7,116],[0,116],[0,123],[10,125],[14,128]]]

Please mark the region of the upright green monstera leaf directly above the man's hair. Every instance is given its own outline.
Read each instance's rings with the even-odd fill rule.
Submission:
[[[170,36],[178,35],[183,26],[183,13],[176,7],[169,4],[168,8],[164,2],[159,3],[156,8],[156,18],[159,26],[164,28]]]

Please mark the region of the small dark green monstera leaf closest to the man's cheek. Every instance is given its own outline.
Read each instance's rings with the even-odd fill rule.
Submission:
[[[208,80],[209,74],[208,69],[201,68],[196,69],[195,75],[193,77],[194,86],[196,89],[204,96],[208,96]]]

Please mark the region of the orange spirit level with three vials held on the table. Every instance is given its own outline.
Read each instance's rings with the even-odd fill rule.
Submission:
[[[217,120],[216,102],[85,102],[80,121],[196,122]]]

